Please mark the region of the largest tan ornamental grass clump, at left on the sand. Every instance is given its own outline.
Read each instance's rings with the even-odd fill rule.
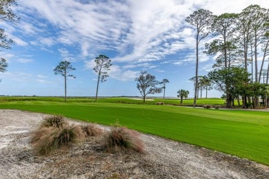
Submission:
[[[32,135],[34,152],[48,155],[59,147],[82,140],[85,137],[81,127],[65,125],[63,127],[41,127]]]

